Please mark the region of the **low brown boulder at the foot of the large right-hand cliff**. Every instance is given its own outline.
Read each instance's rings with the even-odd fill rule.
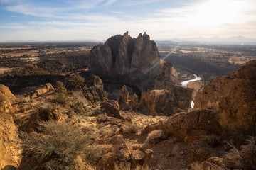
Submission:
[[[206,135],[224,135],[220,126],[220,113],[206,108],[171,115],[164,124],[160,123],[159,127],[186,142],[193,142]]]

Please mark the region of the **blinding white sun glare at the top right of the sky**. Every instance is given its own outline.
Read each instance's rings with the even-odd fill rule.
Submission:
[[[223,23],[238,21],[245,7],[241,1],[210,0],[196,6],[190,21],[208,26],[219,26]]]

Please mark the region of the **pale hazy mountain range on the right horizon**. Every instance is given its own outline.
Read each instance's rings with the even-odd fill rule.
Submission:
[[[242,36],[233,36],[230,38],[220,38],[215,36],[213,38],[174,38],[171,41],[175,42],[213,42],[213,43],[220,43],[220,44],[237,44],[237,45],[256,45],[255,38],[245,38]]]

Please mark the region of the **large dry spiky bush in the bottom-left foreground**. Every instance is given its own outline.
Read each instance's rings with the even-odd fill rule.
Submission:
[[[42,134],[21,132],[23,151],[44,169],[74,169],[75,159],[87,152],[89,138],[78,128],[53,121],[38,122]]]

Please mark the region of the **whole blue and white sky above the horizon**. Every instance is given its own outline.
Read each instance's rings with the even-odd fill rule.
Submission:
[[[256,0],[0,0],[0,42],[256,38]]]

